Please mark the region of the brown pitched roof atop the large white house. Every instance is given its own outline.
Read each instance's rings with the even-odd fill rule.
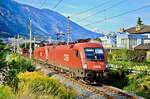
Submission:
[[[134,26],[134,27],[126,29],[125,32],[128,32],[130,34],[150,33],[150,26],[149,25],[143,25],[141,30],[139,30],[139,31],[136,31],[136,26]]]

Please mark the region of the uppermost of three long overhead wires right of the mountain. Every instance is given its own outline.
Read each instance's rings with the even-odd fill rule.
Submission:
[[[101,4],[97,5],[97,6],[94,6],[94,7],[91,7],[91,8],[89,8],[89,9],[86,9],[86,10],[84,10],[84,11],[82,11],[82,12],[76,13],[76,16],[78,16],[78,15],[80,15],[80,14],[87,13],[87,12],[89,12],[89,11],[93,10],[93,9],[96,9],[96,8],[102,7],[102,6],[104,6],[105,4],[110,3],[111,1],[112,1],[112,0],[108,0],[108,1],[103,2],[103,3],[101,3]],[[72,15],[71,17],[74,17],[74,16]]]

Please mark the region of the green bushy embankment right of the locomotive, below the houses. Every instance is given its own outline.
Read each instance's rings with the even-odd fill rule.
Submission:
[[[108,83],[150,98],[150,62],[144,55],[143,51],[134,52],[125,49],[112,51],[108,63],[114,67],[110,69]]]

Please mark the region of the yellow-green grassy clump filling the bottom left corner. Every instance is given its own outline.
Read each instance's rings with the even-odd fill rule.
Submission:
[[[0,99],[15,99],[10,87],[0,85]]]

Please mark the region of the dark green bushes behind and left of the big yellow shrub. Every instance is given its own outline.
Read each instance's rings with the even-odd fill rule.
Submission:
[[[5,81],[4,83],[13,88],[14,91],[17,91],[18,89],[18,78],[16,77],[17,74],[19,72],[34,71],[34,70],[35,66],[32,63],[32,61],[12,53],[12,55],[10,55],[9,71],[4,78]]]

